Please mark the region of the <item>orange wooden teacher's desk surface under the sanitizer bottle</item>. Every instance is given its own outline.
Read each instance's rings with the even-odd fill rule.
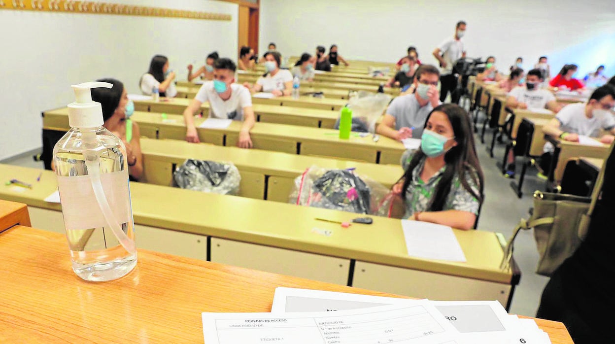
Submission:
[[[6,343],[202,343],[201,312],[268,312],[276,287],[396,296],[147,250],[124,278],[85,282],[62,234],[25,226],[0,234],[0,257]],[[553,343],[572,343],[560,322],[536,323]]]

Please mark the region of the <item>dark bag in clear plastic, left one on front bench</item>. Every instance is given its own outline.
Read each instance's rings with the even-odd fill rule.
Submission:
[[[241,176],[231,162],[188,159],[175,169],[173,181],[182,189],[236,195]]]

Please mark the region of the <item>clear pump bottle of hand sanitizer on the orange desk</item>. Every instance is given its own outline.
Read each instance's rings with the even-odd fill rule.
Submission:
[[[73,86],[68,130],[54,147],[55,172],[73,271],[87,281],[121,278],[137,265],[124,143],[103,127],[100,103],[90,89]]]

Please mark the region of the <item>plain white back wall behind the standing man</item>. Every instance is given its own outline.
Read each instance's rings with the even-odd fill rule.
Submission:
[[[615,74],[613,0],[261,0],[260,14],[261,52],[271,41],[286,56],[338,44],[344,58],[397,62],[412,45],[435,63],[435,47],[465,20],[468,57],[494,55],[501,70],[547,55],[555,73],[577,63],[581,78],[601,64]]]

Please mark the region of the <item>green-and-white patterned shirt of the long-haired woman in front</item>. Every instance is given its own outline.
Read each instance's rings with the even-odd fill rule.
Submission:
[[[409,159],[407,161],[409,161]],[[411,217],[415,212],[427,211],[429,205],[431,204],[431,199],[435,194],[435,188],[440,182],[442,173],[445,170],[445,167],[442,167],[442,169],[432,175],[427,182],[424,182],[423,179],[421,179],[421,172],[423,172],[424,164],[425,159],[419,162],[419,164],[412,171],[412,182],[410,182],[410,185],[408,185],[408,189],[406,191],[405,218]],[[407,167],[407,164],[404,165],[404,167]],[[478,194],[478,187],[470,175],[466,175],[466,181],[472,190]],[[453,182],[451,183],[451,191],[446,198],[446,202],[442,210],[461,210],[478,215],[479,207],[480,202],[478,202],[478,199],[472,196],[472,193],[467,191],[461,184],[459,177],[455,176],[453,178]]]

